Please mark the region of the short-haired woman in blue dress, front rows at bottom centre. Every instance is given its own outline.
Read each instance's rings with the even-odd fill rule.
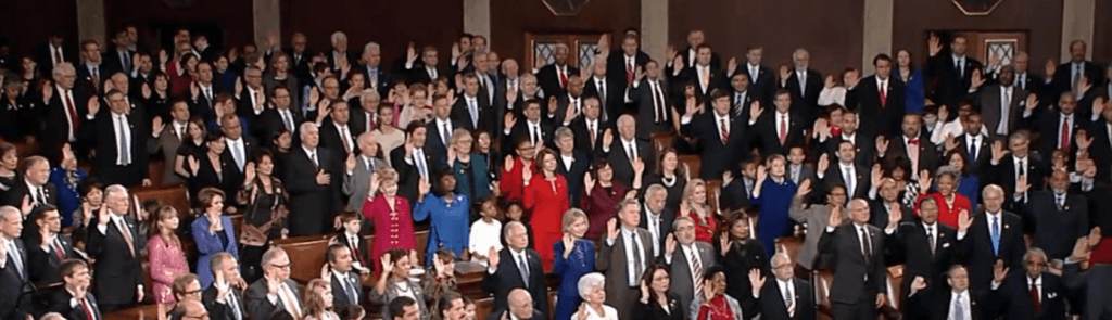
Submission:
[[[587,233],[587,213],[572,208],[564,212],[564,237],[553,243],[553,272],[559,274],[559,291],[556,291],[555,320],[568,320],[579,308],[579,277],[595,271],[595,242],[583,239]],[[538,244],[538,246],[544,246]],[[570,248],[568,250],[567,248]]]

